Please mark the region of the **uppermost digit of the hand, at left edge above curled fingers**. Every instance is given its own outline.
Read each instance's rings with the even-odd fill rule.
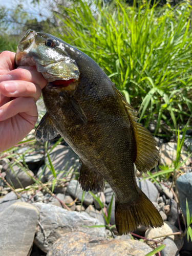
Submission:
[[[7,74],[9,71],[15,69],[14,65],[15,53],[5,51],[0,55],[0,76]]]

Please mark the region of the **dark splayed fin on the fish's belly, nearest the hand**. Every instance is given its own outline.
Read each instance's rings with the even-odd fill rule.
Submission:
[[[54,139],[56,136],[57,136],[57,130],[49,114],[46,113],[40,120],[40,123],[38,124],[35,130],[35,138],[36,140],[45,142],[45,141]]]

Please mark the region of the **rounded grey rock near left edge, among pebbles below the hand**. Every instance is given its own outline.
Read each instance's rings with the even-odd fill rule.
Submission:
[[[13,184],[14,188],[23,188],[34,183],[34,181],[27,175],[27,173],[25,173],[19,166],[14,165],[12,168],[13,170],[7,170],[6,180],[9,184]],[[34,177],[34,174],[31,170],[29,170],[28,173],[31,177]]]

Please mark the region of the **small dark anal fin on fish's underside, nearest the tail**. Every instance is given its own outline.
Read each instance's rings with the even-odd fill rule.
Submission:
[[[79,176],[79,184],[83,190],[102,191],[104,189],[104,179],[97,175],[87,165],[82,163]]]

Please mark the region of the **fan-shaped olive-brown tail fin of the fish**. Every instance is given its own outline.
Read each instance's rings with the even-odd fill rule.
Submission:
[[[115,224],[119,234],[127,234],[138,226],[161,227],[163,220],[153,203],[140,191],[132,204],[115,201]]]

